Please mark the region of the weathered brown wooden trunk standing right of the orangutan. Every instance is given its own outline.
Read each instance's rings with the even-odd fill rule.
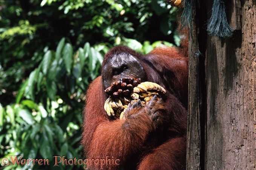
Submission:
[[[226,2],[231,26],[236,14],[232,2]],[[202,38],[206,26],[200,16],[210,18],[212,0],[194,7],[191,35],[198,39],[190,39],[187,169],[255,169],[256,0],[241,2],[241,29],[231,38]],[[198,49],[205,60],[195,57]]]

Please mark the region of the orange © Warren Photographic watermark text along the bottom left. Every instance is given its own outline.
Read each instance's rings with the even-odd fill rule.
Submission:
[[[82,165],[84,169],[87,169],[89,165],[100,165],[103,168],[104,165],[119,165],[120,159],[115,159],[114,156],[106,156],[105,158],[97,159],[67,159],[66,156],[53,156],[54,164],[52,166],[60,165]],[[1,159],[1,165],[50,165],[49,159],[26,159],[23,156],[9,156]]]

